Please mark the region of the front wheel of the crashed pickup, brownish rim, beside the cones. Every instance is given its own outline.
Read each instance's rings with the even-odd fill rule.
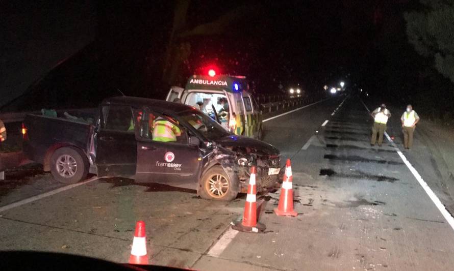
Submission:
[[[222,167],[216,165],[202,176],[199,195],[204,199],[233,200],[238,195],[238,192],[234,192],[237,191],[234,189],[236,185]]]

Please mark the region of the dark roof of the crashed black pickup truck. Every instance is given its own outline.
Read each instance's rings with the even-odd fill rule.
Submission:
[[[192,106],[181,104],[181,103],[171,103],[163,100],[140,98],[140,97],[130,97],[130,96],[118,96],[104,99],[103,105],[129,105],[136,107],[148,107],[152,110],[159,111],[160,113],[180,113],[188,110],[194,109]]]

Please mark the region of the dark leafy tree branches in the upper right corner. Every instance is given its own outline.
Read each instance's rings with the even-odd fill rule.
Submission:
[[[454,1],[420,0],[421,8],[405,13],[407,36],[415,50],[454,82]]]

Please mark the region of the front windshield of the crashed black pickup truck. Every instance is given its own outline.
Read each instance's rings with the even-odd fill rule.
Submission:
[[[216,140],[230,135],[227,130],[214,121],[210,116],[198,110],[185,111],[180,113],[179,117],[209,140]]]

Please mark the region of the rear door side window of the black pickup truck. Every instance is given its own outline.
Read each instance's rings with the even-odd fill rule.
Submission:
[[[130,106],[103,106],[103,123],[101,129],[134,133],[134,121]]]

